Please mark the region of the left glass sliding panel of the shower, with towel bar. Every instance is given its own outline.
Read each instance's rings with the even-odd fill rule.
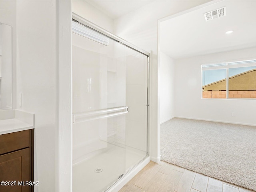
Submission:
[[[126,58],[116,57],[122,45],[113,40],[72,38],[73,191],[100,192],[125,173],[126,110],[112,109],[126,105]]]

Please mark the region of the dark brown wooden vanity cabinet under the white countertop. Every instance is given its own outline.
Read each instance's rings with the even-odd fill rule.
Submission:
[[[0,192],[33,192],[33,130],[0,135]],[[16,182],[16,183],[15,183]]]

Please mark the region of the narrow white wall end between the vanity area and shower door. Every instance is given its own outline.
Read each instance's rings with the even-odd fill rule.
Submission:
[[[57,1],[58,134],[56,192],[72,191],[72,10],[70,1]]]

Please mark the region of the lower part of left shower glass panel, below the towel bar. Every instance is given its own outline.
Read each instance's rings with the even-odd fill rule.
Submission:
[[[104,191],[124,174],[125,115],[73,127],[73,192]]]

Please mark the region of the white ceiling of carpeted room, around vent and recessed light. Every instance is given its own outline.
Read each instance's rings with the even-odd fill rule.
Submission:
[[[226,16],[205,21],[204,13],[226,6]],[[256,46],[256,0],[223,0],[163,21],[160,50],[184,58]],[[225,34],[233,30],[232,34]]]

